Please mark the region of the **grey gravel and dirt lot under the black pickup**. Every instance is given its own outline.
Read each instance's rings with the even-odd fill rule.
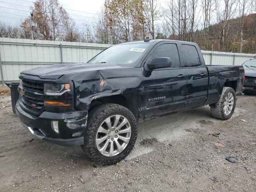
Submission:
[[[255,134],[256,96],[239,96],[227,121],[203,107],[139,124],[132,153],[116,165],[98,166],[80,147],[34,138],[12,113],[10,96],[2,95],[0,191],[255,192]]]

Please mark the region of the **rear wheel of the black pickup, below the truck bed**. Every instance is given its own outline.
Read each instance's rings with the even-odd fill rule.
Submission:
[[[222,120],[228,120],[236,108],[236,93],[231,87],[224,87],[220,99],[211,105],[212,116]]]

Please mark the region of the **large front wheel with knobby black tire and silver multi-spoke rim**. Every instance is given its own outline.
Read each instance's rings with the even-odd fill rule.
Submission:
[[[137,138],[136,118],[118,104],[102,104],[90,111],[82,149],[99,164],[116,164],[134,147]]]

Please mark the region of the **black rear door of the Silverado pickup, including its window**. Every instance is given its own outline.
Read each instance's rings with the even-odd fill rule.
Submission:
[[[184,68],[187,70],[186,107],[203,106],[208,94],[208,71],[196,44],[182,44]]]

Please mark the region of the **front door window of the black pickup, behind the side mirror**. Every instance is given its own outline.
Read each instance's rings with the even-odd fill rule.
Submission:
[[[149,58],[169,57],[171,59],[171,68],[180,68],[180,58],[176,44],[166,43],[158,46]]]

